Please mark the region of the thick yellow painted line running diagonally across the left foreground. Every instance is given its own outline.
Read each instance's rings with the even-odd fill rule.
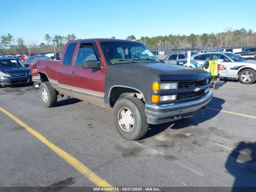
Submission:
[[[43,142],[46,146],[48,146],[51,150],[53,150],[56,154],[58,154],[61,158],[63,158],[66,162],[68,162],[71,166],[73,166],[76,170],[86,176],[91,182],[93,182],[96,186],[101,187],[111,187],[108,182],[97,176],[94,172],[92,172],[88,167],[78,161],[76,158],[65,152],[64,150],[58,148],[56,145],[48,141],[44,136],[40,133],[36,132],[34,129],[30,128],[27,124],[16,118],[14,115],[10,114],[8,111],[4,110],[0,107],[0,110],[9,116],[12,120],[18,123],[20,126],[24,127],[28,132],[38,138],[41,142]]]

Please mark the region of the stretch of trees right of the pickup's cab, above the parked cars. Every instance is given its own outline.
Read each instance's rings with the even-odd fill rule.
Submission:
[[[252,30],[244,28],[240,30],[227,30],[226,32],[206,34],[190,34],[186,35],[166,35],[148,37],[142,36],[136,39],[134,35],[130,35],[127,40],[136,40],[142,42],[149,48],[214,48],[220,46],[252,46],[256,45],[256,33]]]

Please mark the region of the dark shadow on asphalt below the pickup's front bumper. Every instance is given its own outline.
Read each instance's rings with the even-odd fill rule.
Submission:
[[[224,102],[224,99],[213,97],[212,100],[206,105],[206,109],[201,114],[193,116],[192,118],[177,120],[174,122],[168,122],[158,125],[150,124],[148,133],[142,138],[142,140],[155,136],[168,128],[177,130],[189,126],[198,126],[198,124],[203,123],[209,119],[212,119],[216,115],[218,115],[220,110],[222,109],[222,104],[224,104]],[[216,110],[212,110],[209,108],[213,108]]]

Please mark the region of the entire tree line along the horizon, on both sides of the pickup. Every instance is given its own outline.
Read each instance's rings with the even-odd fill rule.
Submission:
[[[112,36],[112,39],[116,37]],[[136,39],[134,35],[130,35],[127,40],[142,42],[151,49],[172,49],[172,48],[217,48],[220,46],[252,46],[256,45],[256,33],[252,30],[244,28],[240,30],[226,30],[226,32],[210,33],[210,34],[190,34],[148,37],[142,36]],[[36,42],[30,42],[30,52],[61,52],[67,41],[77,40],[74,34],[67,36],[45,34],[45,42],[40,45]],[[13,45],[16,44],[16,45]],[[11,34],[0,36],[0,54],[11,53],[27,53],[28,46],[25,45],[23,38],[14,38]]]

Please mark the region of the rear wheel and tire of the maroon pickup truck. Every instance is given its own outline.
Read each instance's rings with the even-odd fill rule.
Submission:
[[[43,82],[39,87],[40,101],[46,107],[54,107],[57,104],[57,92],[50,82]]]

